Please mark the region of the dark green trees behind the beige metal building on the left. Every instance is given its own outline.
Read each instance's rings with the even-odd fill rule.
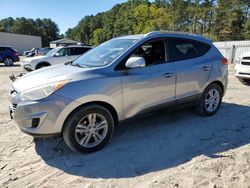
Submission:
[[[0,20],[0,32],[41,36],[43,46],[48,46],[49,42],[62,37],[59,36],[57,24],[49,18],[5,18]]]

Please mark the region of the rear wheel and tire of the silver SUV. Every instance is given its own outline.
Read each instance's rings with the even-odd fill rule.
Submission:
[[[211,97],[214,99],[212,99]],[[202,116],[212,116],[219,110],[221,101],[221,87],[218,84],[211,84],[202,93],[198,105],[195,107],[195,111]]]

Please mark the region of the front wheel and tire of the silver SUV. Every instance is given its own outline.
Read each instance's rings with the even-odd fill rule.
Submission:
[[[64,124],[62,135],[71,150],[90,153],[104,147],[113,132],[114,119],[111,113],[100,105],[89,105],[70,114]]]

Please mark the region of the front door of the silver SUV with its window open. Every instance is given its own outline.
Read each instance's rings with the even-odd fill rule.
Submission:
[[[143,57],[146,66],[128,69],[122,76],[125,118],[175,100],[175,70],[166,62],[165,46],[164,40],[150,41],[132,53]]]

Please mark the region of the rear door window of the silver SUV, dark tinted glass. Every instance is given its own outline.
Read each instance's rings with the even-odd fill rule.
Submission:
[[[204,55],[209,49],[208,44],[199,41],[180,38],[169,39],[170,61],[196,58]]]

